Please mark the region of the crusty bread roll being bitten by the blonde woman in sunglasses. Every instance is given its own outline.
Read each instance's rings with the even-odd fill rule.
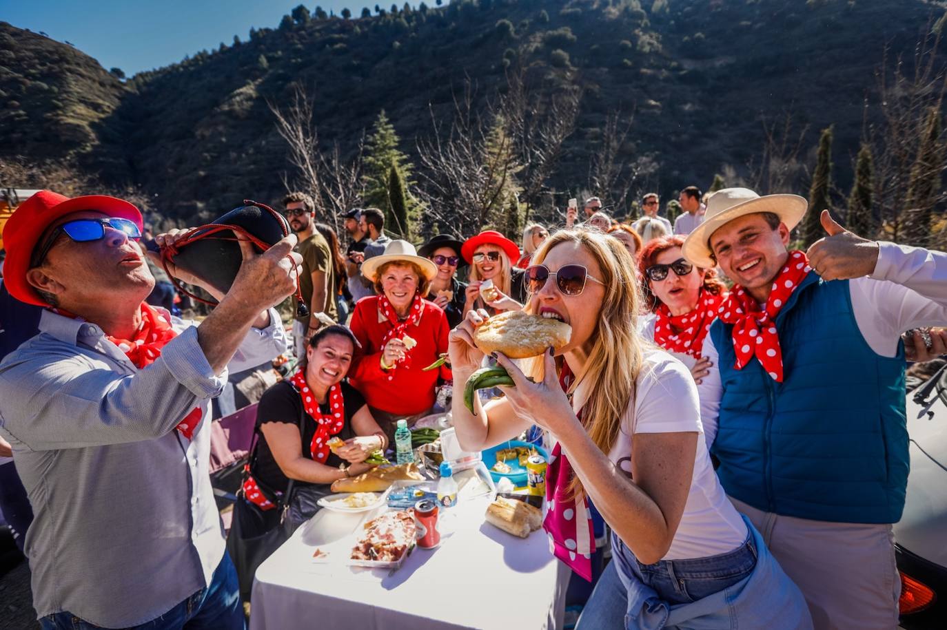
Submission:
[[[572,326],[559,320],[508,310],[493,315],[474,331],[474,343],[484,353],[500,351],[510,359],[527,359],[550,345],[561,348],[572,337]]]

